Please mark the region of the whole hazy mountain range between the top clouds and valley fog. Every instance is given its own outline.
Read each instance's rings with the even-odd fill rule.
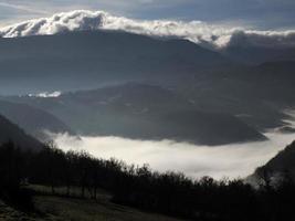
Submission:
[[[49,129],[204,145],[262,140],[264,130],[286,126],[284,110],[295,105],[292,49],[211,51],[173,38],[82,31],[2,38],[0,51],[0,93],[18,95],[2,96],[10,104],[0,114],[32,135]],[[44,91],[64,93],[25,96]]]

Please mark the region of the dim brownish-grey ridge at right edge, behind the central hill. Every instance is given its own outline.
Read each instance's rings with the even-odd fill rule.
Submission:
[[[294,64],[268,62],[185,76],[175,90],[198,109],[232,114],[263,131],[283,126],[282,119],[289,117],[284,110],[295,105]]]

